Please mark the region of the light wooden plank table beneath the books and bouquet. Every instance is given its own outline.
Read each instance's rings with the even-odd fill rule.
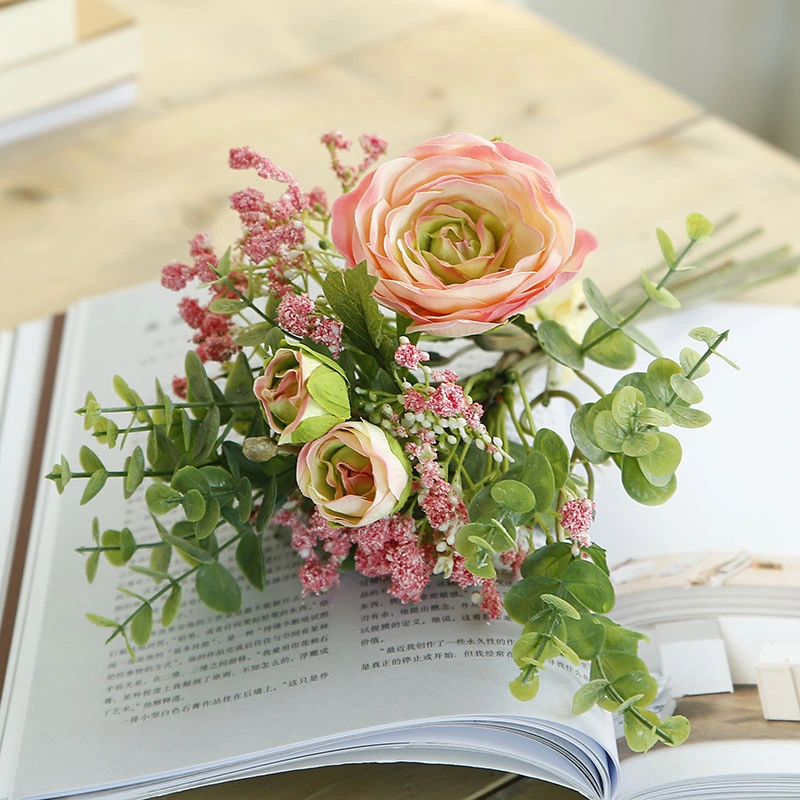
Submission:
[[[491,0],[127,0],[142,29],[130,112],[0,151],[0,328],[156,278],[200,230],[236,233],[226,168],[250,144],[333,190],[319,134],[501,135],[547,159],[613,287],[657,256],[656,226],[738,211],[800,244],[800,166],[692,102]],[[274,8],[266,8],[267,6]],[[765,247],[762,244],[761,247]],[[800,278],[755,293],[800,301]],[[733,696],[738,698],[738,694]],[[752,705],[752,694],[741,700]],[[740,700],[731,700],[734,706]],[[500,773],[420,765],[294,773],[181,797],[575,797]]]

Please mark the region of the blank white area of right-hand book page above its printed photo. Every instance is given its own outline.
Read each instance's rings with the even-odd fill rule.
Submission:
[[[711,372],[698,381],[705,395],[698,407],[711,414],[711,424],[668,429],[683,445],[683,460],[678,489],[665,505],[632,502],[616,467],[598,471],[592,538],[608,548],[611,564],[700,551],[800,554],[797,527],[785,518],[785,501],[795,496],[800,474],[794,461],[800,427],[786,418],[800,394],[800,372],[781,361],[783,343],[794,341],[800,328],[800,310],[715,303],[642,327],[677,360],[683,347],[702,351],[687,335],[699,325],[730,329],[721,352],[741,371],[712,357]],[[613,385],[615,373],[597,372]]]

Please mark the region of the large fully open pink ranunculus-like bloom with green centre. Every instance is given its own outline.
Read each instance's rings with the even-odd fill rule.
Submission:
[[[367,262],[376,298],[437,336],[483,333],[566,283],[597,240],[553,170],[505,142],[454,133],[369,173],[333,204],[333,241]]]

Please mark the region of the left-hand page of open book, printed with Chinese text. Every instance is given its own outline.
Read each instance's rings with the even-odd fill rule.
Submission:
[[[76,461],[86,443],[81,419],[66,410],[82,405],[87,389],[101,403],[115,402],[110,386],[118,372],[147,397],[155,375],[166,386],[181,371],[186,329],[179,321],[164,322],[173,319],[174,302],[174,295],[145,287],[84,303],[70,315],[56,389],[60,411],[46,463],[61,453]],[[113,468],[114,453],[94,449]],[[610,719],[599,711],[572,716],[580,676],[549,670],[534,702],[514,700],[507,682],[517,672],[510,649],[519,626],[487,623],[469,591],[455,586],[432,584],[420,605],[404,606],[387,597],[383,583],[350,574],[327,595],[301,599],[299,559],[273,538],[266,543],[267,590],[243,586],[239,613],[208,611],[186,587],[177,620],[169,629],[156,623],[135,662],[119,641],[104,647],[106,632],[90,625],[84,612],[119,619],[135,601],[115,595],[114,587],[147,596],[154,584],[101,563],[88,586],[72,551],[91,544],[94,516],[101,529],[127,524],[144,541],[152,524],[141,489],[138,503],[124,504],[121,489],[117,494],[111,485],[79,507],[82,488],[76,480],[59,498],[46,487],[36,521],[42,545],[33,593],[41,609],[26,621],[30,685],[15,686],[19,697],[29,697],[18,701],[26,707],[15,797],[111,787],[147,775],[167,780],[207,764],[221,773],[264,771],[266,751],[274,751],[277,768],[281,762],[287,768],[303,756],[343,747],[354,731],[410,728],[422,719],[470,720],[480,727],[481,720],[489,725],[500,718],[511,727],[542,720],[537,725],[551,732],[545,739],[574,730],[575,742],[585,744],[573,743],[571,755],[565,745],[567,763],[585,757],[590,771],[602,774],[590,781],[584,768],[562,779],[596,783],[597,796],[607,793],[614,780]],[[447,743],[446,726],[430,730],[431,742]],[[585,749],[593,755],[584,756]],[[479,743],[464,745],[464,763],[479,763],[480,750]],[[498,764],[501,755],[502,749],[488,760]],[[351,759],[345,753],[341,760]],[[523,760],[518,753],[506,763]],[[567,771],[562,765],[561,774]]]

